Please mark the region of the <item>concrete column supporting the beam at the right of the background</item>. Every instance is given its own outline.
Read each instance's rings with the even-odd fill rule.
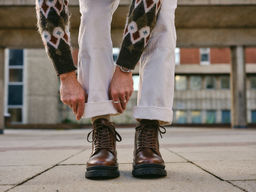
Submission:
[[[245,128],[246,118],[246,74],[244,47],[231,47],[231,126]]]

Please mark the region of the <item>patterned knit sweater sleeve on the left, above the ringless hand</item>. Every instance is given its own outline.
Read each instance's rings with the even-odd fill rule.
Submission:
[[[57,75],[76,70],[69,34],[68,0],[36,0],[37,27]]]

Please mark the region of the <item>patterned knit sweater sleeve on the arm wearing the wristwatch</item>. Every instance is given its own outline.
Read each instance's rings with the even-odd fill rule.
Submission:
[[[134,69],[156,25],[162,0],[132,0],[117,65]]]

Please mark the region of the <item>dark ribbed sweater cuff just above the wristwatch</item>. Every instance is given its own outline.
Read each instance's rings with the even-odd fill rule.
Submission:
[[[142,51],[136,50],[132,50],[132,52],[130,52],[127,48],[122,47],[119,52],[116,64],[125,68],[134,69],[136,64],[140,60],[140,56],[142,53]]]

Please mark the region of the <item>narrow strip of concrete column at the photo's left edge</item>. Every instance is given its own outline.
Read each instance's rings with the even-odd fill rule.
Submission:
[[[4,133],[4,49],[0,48],[0,134]]]

